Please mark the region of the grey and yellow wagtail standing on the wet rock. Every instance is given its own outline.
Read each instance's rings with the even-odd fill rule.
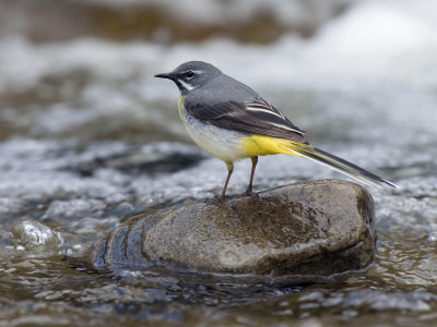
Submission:
[[[180,90],[179,116],[188,134],[203,150],[225,161],[228,172],[220,202],[225,202],[235,161],[251,158],[249,185],[244,194],[256,195],[252,182],[258,156],[276,154],[308,158],[369,185],[395,187],[393,183],[310,145],[304,137],[305,132],[281,111],[210,63],[189,61],[155,77],[176,83]]]

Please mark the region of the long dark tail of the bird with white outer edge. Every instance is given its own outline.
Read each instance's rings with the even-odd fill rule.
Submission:
[[[387,184],[392,187],[397,187],[397,185],[392,182],[386,181],[379,175],[376,175],[352,162],[349,162],[342,158],[323,152],[317,147],[293,142],[292,146],[288,147],[288,149],[298,156],[303,156],[323,166],[327,166],[333,170],[340,171],[368,185],[381,186],[383,184]]]

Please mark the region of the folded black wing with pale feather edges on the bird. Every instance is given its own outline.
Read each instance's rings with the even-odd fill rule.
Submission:
[[[238,132],[308,143],[304,131],[295,126],[282,112],[261,98],[249,102],[216,102],[190,106],[189,114],[204,123]]]

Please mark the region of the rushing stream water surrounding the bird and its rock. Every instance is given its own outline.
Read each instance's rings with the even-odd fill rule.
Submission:
[[[70,7],[33,12],[35,2],[0,1],[0,326],[436,326],[430,2],[310,1],[303,9],[272,1],[269,17],[282,27],[257,43],[243,27],[236,38],[216,27],[221,14],[236,13],[213,1],[181,20],[203,10],[216,34],[188,28],[191,39],[180,32],[176,40],[166,28],[126,39],[130,29],[114,36],[110,24],[113,34],[86,24],[88,34],[79,25],[57,32]],[[244,12],[246,23],[256,16]],[[287,12],[310,24],[295,17],[287,25]],[[58,20],[38,29],[38,15]],[[176,86],[152,77],[193,59],[252,86],[312,144],[398,184],[368,189],[378,242],[367,272],[273,286],[160,269],[97,271],[66,259],[134,213],[220,194],[225,165],[188,138]],[[229,194],[245,190],[249,170],[248,161],[236,165]],[[341,177],[305,159],[262,157],[255,189],[318,178]]]

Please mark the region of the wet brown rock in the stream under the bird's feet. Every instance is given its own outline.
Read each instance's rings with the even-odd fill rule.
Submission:
[[[96,267],[329,277],[368,267],[374,201],[340,180],[300,182],[231,206],[193,203],[134,216],[86,254]]]

